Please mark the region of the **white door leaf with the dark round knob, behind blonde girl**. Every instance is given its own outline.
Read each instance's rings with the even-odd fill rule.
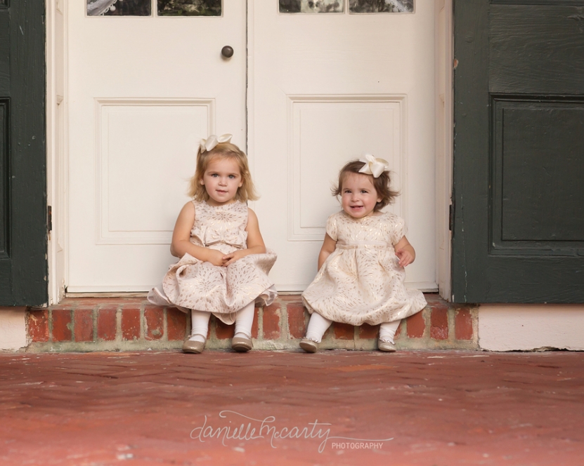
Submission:
[[[245,2],[214,17],[90,17],[84,3],[69,5],[67,291],[148,291],[175,260],[200,139],[245,148]]]

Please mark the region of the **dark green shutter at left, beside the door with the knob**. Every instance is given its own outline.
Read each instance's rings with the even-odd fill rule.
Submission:
[[[0,305],[47,302],[44,1],[0,0]]]

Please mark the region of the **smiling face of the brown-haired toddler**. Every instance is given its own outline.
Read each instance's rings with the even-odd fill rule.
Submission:
[[[341,206],[346,213],[353,218],[367,217],[379,201],[371,175],[346,173],[341,191]]]

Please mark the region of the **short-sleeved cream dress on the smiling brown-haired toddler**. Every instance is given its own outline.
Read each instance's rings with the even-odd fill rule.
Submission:
[[[405,222],[393,213],[353,218],[330,215],[327,233],[337,245],[302,293],[312,314],[359,326],[408,317],[426,306],[421,291],[405,288],[405,269],[394,251]]]

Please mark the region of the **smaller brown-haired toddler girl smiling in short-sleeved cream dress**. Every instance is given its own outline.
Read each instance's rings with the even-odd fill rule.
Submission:
[[[394,352],[401,319],[422,310],[426,300],[403,284],[404,267],[415,260],[403,218],[381,211],[398,194],[390,189],[389,164],[370,154],[349,162],[333,194],[342,211],[327,220],[318,274],[302,293],[311,319],[300,347],[316,352],[335,321],[381,324],[378,347]]]

